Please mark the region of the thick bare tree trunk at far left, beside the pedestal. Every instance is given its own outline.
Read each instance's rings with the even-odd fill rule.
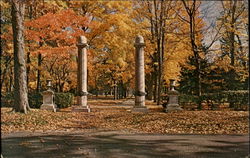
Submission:
[[[14,41],[14,110],[27,113],[29,110],[27,74],[24,55],[25,1],[12,0],[11,16]]]

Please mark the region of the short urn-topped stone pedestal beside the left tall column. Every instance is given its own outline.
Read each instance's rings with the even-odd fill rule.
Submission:
[[[55,93],[51,89],[51,81],[51,79],[47,80],[48,90],[43,92],[43,104],[41,105],[40,109],[56,112],[56,105],[54,103]]]

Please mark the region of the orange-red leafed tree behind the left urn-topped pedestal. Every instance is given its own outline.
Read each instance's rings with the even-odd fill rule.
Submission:
[[[72,10],[62,10],[26,22],[29,48],[32,55],[41,57],[37,69],[45,70],[44,77],[52,77],[57,91],[63,91],[71,82],[69,74],[76,73],[76,37],[84,34],[79,28],[87,24],[86,19]]]

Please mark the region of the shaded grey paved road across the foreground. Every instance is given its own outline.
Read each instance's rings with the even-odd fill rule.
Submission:
[[[2,135],[4,158],[248,158],[248,135],[159,135],[118,131]]]

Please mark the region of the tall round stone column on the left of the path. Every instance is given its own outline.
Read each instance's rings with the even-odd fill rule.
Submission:
[[[87,39],[85,36],[78,38],[78,69],[77,69],[77,107],[73,111],[90,112],[87,105]]]

